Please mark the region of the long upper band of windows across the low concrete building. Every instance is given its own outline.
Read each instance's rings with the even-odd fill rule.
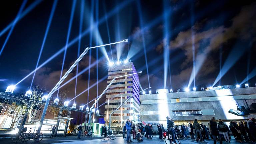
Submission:
[[[197,97],[197,98],[179,98],[179,99],[144,100],[144,101],[142,101],[142,104],[163,104],[163,103],[179,103],[179,102],[199,102],[199,101],[227,101],[227,100],[242,100],[242,99],[256,99],[256,94],[253,94],[253,95],[234,95],[234,96]]]

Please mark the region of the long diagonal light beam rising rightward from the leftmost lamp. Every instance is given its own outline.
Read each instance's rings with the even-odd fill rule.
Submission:
[[[113,16],[117,11],[121,10],[123,7],[125,7],[127,4],[129,4],[130,2],[132,2],[133,0],[128,0],[128,1],[124,1],[123,3],[121,3],[120,5],[118,5],[115,9],[113,9],[112,11],[110,11],[107,14],[107,18]],[[101,18],[99,20],[98,24],[102,24],[104,22],[104,18]],[[83,31],[81,34],[81,38],[84,37],[86,34],[88,34],[91,30],[93,30],[96,27],[96,23],[93,24],[92,28],[88,28],[87,30]],[[79,40],[79,36],[77,36],[76,38],[74,38],[73,40],[71,40],[68,44],[68,48],[70,46],[72,46],[73,44],[75,44],[77,41]],[[34,71],[37,71],[38,69],[40,69],[41,67],[43,67],[44,65],[46,65],[48,62],[50,62],[52,59],[54,59],[55,57],[57,57],[59,54],[61,54],[63,51],[65,50],[65,46],[62,47],[58,52],[56,52],[54,55],[52,55],[51,57],[49,57],[45,62],[43,62],[40,66],[37,67],[37,69],[33,70],[32,72],[30,72],[27,76],[25,76],[23,79],[21,79],[18,83],[15,84],[15,86],[17,86],[19,83],[21,83],[22,81],[24,81],[26,78],[28,78],[30,75],[32,75],[34,73]]]

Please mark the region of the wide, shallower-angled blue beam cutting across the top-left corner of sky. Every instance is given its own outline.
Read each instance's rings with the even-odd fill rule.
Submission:
[[[8,26],[6,26],[1,32],[0,37],[7,32],[8,29],[12,27],[12,25],[16,22],[18,22],[20,19],[22,19],[24,16],[26,16],[31,10],[33,10],[38,4],[40,4],[43,0],[37,0],[33,2],[31,5],[29,5],[19,16],[18,19],[14,19]]]

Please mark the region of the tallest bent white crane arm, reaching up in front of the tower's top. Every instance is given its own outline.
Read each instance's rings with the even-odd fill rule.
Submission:
[[[60,79],[60,81],[54,86],[54,88],[50,91],[50,93],[48,94],[48,98],[46,99],[45,105],[44,105],[44,110],[40,119],[40,123],[39,123],[39,127],[38,127],[38,131],[37,133],[40,133],[41,128],[42,128],[42,124],[44,121],[44,117],[47,111],[47,107],[49,105],[49,101],[50,98],[52,96],[52,94],[57,90],[57,88],[60,86],[60,84],[66,79],[66,77],[70,74],[70,72],[75,68],[75,66],[79,63],[79,61],[84,57],[84,55],[92,48],[97,48],[97,47],[103,47],[103,46],[107,46],[107,45],[112,45],[112,44],[117,44],[117,43],[122,43],[122,42],[128,42],[128,39],[119,41],[119,42],[114,42],[114,43],[110,43],[110,44],[104,44],[104,45],[100,45],[100,46],[95,46],[95,47],[87,47],[84,52],[77,58],[77,60],[73,63],[73,65],[68,69],[68,71],[63,75],[63,77]]]

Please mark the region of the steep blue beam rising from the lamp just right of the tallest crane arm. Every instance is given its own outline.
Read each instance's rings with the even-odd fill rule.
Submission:
[[[61,66],[61,72],[60,72],[60,79],[62,77],[64,63],[65,63],[65,59],[66,59],[66,53],[67,53],[67,49],[68,49],[68,41],[69,41],[70,31],[71,31],[72,22],[73,22],[75,6],[76,6],[76,0],[73,0],[72,9],[71,9],[71,15],[70,15],[70,19],[69,19],[68,34],[67,34],[67,39],[66,39],[64,57],[63,57],[62,66]],[[58,92],[57,92],[57,97],[58,97],[58,95],[59,95],[59,89],[58,89]]]

